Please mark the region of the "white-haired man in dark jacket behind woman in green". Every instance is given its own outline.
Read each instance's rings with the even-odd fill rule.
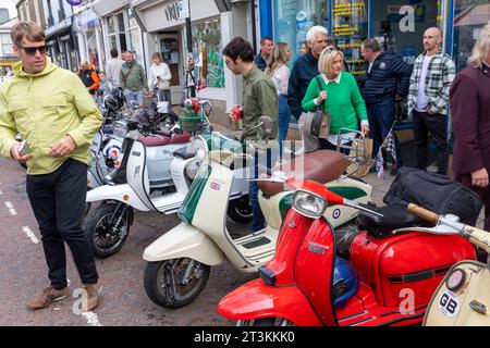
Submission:
[[[309,50],[294,62],[287,86],[287,103],[291,113],[298,120],[305,153],[318,150],[318,138],[313,137],[309,132],[305,132],[306,113],[302,109],[302,101],[310,80],[319,74],[318,58],[327,47],[328,34],[327,28],[319,25],[308,30],[306,41]]]

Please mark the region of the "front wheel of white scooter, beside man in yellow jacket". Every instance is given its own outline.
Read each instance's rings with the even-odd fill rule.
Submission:
[[[93,209],[84,223],[84,229],[97,259],[106,259],[118,252],[124,245],[130,233],[130,210],[124,212],[119,227],[113,231],[112,221],[118,204],[102,203]]]

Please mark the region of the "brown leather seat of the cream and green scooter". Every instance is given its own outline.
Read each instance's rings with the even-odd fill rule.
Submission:
[[[291,178],[326,184],[339,178],[347,170],[347,166],[348,161],[345,154],[332,150],[319,150],[297,157],[283,165],[275,165],[272,172],[282,171]],[[267,196],[291,189],[283,183],[259,181],[258,185]]]

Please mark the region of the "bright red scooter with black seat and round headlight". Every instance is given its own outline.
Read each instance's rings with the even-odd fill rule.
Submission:
[[[476,258],[469,241],[443,229],[434,235],[437,227],[424,232],[429,228],[417,227],[420,220],[402,206],[379,208],[380,216],[323,185],[285,182],[297,190],[275,256],[259,269],[260,278],[218,304],[218,312],[238,325],[419,324],[448,270]],[[328,204],[370,212],[362,214],[367,229],[351,244],[351,263],[336,256],[335,234],[321,217]],[[418,210],[409,204],[408,211]]]

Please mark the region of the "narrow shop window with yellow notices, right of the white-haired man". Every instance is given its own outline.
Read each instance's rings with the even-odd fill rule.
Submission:
[[[334,0],[332,2],[332,35],[344,52],[348,70],[354,75],[365,73],[360,45],[368,36],[367,2],[367,0]]]

